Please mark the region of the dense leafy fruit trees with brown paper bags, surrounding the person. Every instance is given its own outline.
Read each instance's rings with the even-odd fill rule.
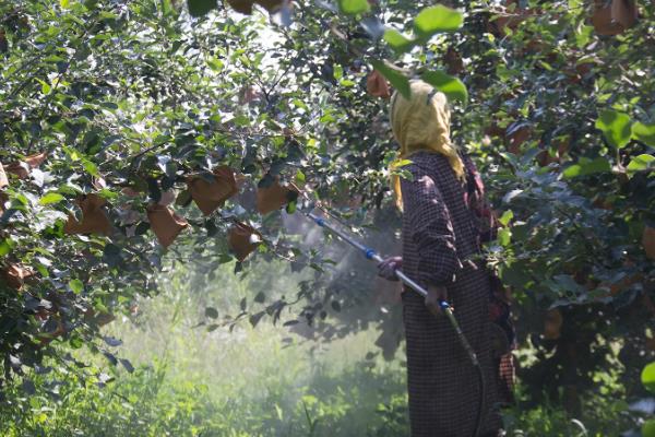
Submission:
[[[576,0],[450,3],[3,3],[7,376],[55,354],[53,339],[94,344],[104,320],[156,293],[158,271],[190,261],[206,272],[234,258],[247,272],[249,257],[314,269],[293,292],[301,319],[325,339],[381,321],[379,344],[397,346],[393,311],[358,307],[353,288],[371,288],[352,280],[359,265],[334,269],[294,236],[297,214],[277,212],[307,194],[394,235],[395,154],[385,101],[367,93],[373,69],[403,94],[420,76],[449,96],[453,140],[504,217],[488,251],[540,351],[535,378],[551,378],[553,392],[588,388],[614,341],[624,364],[645,364],[652,8],[602,32],[598,8]],[[258,189],[277,184],[274,206],[260,198],[258,212]],[[237,320],[276,319],[289,305],[246,307]],[[563,315],[551,340],[539,335],[547,308]]]

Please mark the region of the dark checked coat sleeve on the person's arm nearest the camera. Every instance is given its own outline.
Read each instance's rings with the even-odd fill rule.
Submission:
[[[416,166],[409,167],[414,178],[403,178],[401,190],[408,225],[405,229],[420,257],[418,280],[427,285],[446,286],[461,265],[451,216],[434,180]]]

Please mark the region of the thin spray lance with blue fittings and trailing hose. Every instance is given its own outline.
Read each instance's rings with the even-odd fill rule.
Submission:
[[[333,234],[341,237],[344,241],[346,241],[349,245],[354,246],[355,248],[359,249],[367,259],[369,259],[371,261],[376,261],[378,263],[383,261],[382,257],[374,249],[367,247],[367,246],[362,245],[361,243],[357,241],[356,239],[352,238],[349,235],[347,235],[343,231],[331,225],[325,218],[323,218],[319,215],[315,215],[312,212],[308,212],[308,213],[306,213],[306,215],[309,218],[311,218],[317,225],[332,232]],[[424,287],[421,287],[419,284],[417,284],[414,280],[412,280],[409,276],[407,276],[401,270],[396,270],[395,274],[405,285],[409,286],[412,290],[414,290],[416,293],[420,294],[421,296],[427,297],[428,291],[425,290]],[[466,351],[466,353],[468,354],[471,363],[475,367],[477,375],[478,375],[478,381],[479,381],[479,387],[480,387],[480,399],[479,399],[479,403],[478,403],[476,425],[475,425],[474,434],[473,434],[473,437],[477,437],[477,435],[479,434],[480,425],[481,425],[483,405],[484,405],[484,400],[485,400],[484,373],[483,373],[480,363],[478,361],[478,357],[477,357],[475,351],[468,343],[468,340],[466,340],[464,332],[462,332],[462,328],[460,328],[460,323],[457,323],[457,319],[455,318],[455,315],[453,314],[453,308],[451,307],[451,305],[448,302],[441,299],[439,302],[439,306],[440,306],[442,312],[448,318],[450,324],[454,329],[460,344],[462,345],[464,351]]]

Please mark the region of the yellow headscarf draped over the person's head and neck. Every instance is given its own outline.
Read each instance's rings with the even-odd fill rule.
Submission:
[[[390,118],[395,140],[401,145],[398,162],[419,151],[444,155],[458,179],[464,179],[464,164],[457,150],[450,141],[450,109],[443,93],[430,84],[413,80],[409,82],[412,96],[406,99],[397,91],[391,97]],[[401,178],[392,176],[396,204],[403,209]]]

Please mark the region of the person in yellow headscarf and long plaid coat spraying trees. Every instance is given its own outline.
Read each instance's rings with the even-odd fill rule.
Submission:
[[[498,436],[498,387],[480,387],[440,306],[452,305],[485,380],[497,381],[489,319],[492,279],[476,259],[492,214],[481,209],[484,187],[475,165],[451,142],[445,95],[419,80],[410,81],[410,91],[409,98],[395,92],[390,105],[398,160],[410,161],[402,168],[412,177],[392,181],[403,211],[403,255],[381,262],[379,274],[395,281],[402,269],[427,290],[425,297],[407,291],[402,297],[412,436]]]

